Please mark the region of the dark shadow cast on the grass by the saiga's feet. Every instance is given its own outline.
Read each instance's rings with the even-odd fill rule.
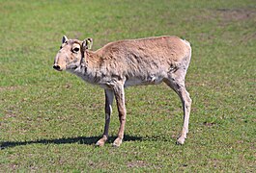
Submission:
[[[115,136],[109,136],[108,142],[113,142],[115,140]],[[86,145],[93,145],[100,139],[100,136],[78,136],[78,137],[67,137],[67,138],[56,138],[56,139],[39,139],[32,141],[0,141],[0,149],[11,148],[20,145],[29,145],[29,144],[67,144],[67,143],[79,143]],[[125,136],[125,141],[135,141],[142,140],[140,136]]]

